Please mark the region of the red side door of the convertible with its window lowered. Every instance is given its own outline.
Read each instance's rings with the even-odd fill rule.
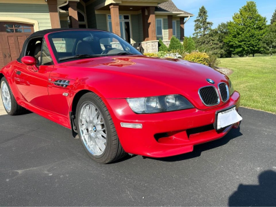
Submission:
[[[37,41],[34,45],[34,47],[37,47],[39,41],[32,39],[32,43],[33,41]],[[48,78],[53,68],[52,59],[45,41],[42,43],[42,50],[39,54],[32,54],[32,51],[35,49],[36,48],[30,50],[30,53],[26,55],[38,55],[40,61],[39,65],[26,66],[23,63],[17,62],[14,66],[14,82],[16,83],[23,99],[30,103],[30,105],[45,110],[52,110],[48,94]],[[43,57],[41,54],[47,55],[44,55]]]

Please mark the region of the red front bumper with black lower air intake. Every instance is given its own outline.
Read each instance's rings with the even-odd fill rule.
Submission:
[[[126,99],[105,99],[121,146],[128,153],[148,157],[169,157],[192,152],[193,146],[224,137],[233,126],[216,131],[215,112],[230,106],[239,108],[239,92],[224,106],[208,110],[197,108],[137,115]],[[142,124],[142,128],[123,128],[121,122]]]

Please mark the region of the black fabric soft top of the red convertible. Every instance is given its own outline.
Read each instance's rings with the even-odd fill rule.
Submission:
[[[97,30],[97,29],[86,29],[86,28],[57,28],[57,29],[48,29],[48,30],[40,30],[37,32],[34,32],[30,34],[30,37],[26,39],[26,41],[23,44],[23,48],[21,50],[21,54],[17,61],[21,62],[21,58],[24,57],[24,54],[26,52],[26,46],[27,43],[30,39],[35,38],[35,37],[44,37],[44,35],[51,33],[51,32],[61,32],[61,31],[74,31],[74,30],[90,30],[90,31],[102,31],[102,30]]]

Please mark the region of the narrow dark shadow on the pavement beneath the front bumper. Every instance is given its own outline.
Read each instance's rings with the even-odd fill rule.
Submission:
[[[210,150],[213,148],[218,148],[220,146],[224,146],[231,139],[235,139],[239,136],[242,136],[242,132],[240,132],[239,130],[240,130],[240,128],[237,128],[237,129],[233,128],[230,130],[230,132],[228,132],[228,134],[226,136],[222,137],[221,139],[217,139],[215,141],[210,141],[205,144],[200,144],[200,145],[194,146],[193,152],[188,152],[186,154],[176,155],[176,156],[172,156],[172,157],[163,157],[163,158],[144,157],[144,159],[155,159],[155,160],[159,160],[159,161],[181,161],[181,160],[185,160],[185,159],[192,159],[195,157],[199,157],[201,155],[201,152],[204,152],[206,150]]]

